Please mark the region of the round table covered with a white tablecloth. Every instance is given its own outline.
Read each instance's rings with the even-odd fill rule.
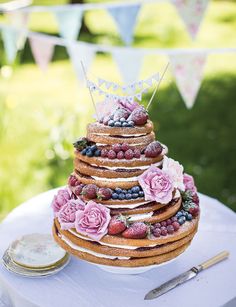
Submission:
[[[51,231],[50,202],[55,193],[56,189],[30,199],[0,224],[1,257],[17,237]],[[16,276],[1,264],[0,306],[222,306],[236,296],[236,214],[219,201],[202,194],[200,204],[199,231],[191,246],[175,261],[139,275],[117,275],[72,258],[60,273],[41,279]],[[230,252],[229,259],[155,300],[144,300],[152,288],[222,250]]]

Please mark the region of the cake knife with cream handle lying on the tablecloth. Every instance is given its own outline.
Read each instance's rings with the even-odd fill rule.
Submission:
[[[210,258],[209,260],[203,262],[202,264],[197,265],[197,266],[191,268],[189,271],[182,273],[182,274],[174,277],[173,279],[167,281],[166,283],[162,284],[160,287],[157,287],[157,288],[151,290],[150,292],[148,292],[145,295],[144,299],[145,300],[152,300],[154,298],[157,298],[158,296],[174,289],[178,285],[181,285],[185,281],[194,278],[202,270],[205,270],[205,269],[209,268],[210,266],[226,259],[228,256],[229,256],[228,251],[223,251],[223,252],[219,253],[218,255]]]

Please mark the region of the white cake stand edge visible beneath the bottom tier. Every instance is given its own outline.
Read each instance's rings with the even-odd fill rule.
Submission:
[[[160,264],[154,264],[154,265],[148,265],[148,266],[140,266],[140,267],[133,267],[133,268],[101,265],[101,264],[96,264],[96,263],[92,263],[92,264],[97,266],[97,267],[99,267],[100,269],[102,269],[102,270],[104,270],[106,272],[109,272],[109,273],[132,275],[132,274],[141,274],[141,273],[147,272],[147,271],[149,271],[151,269],[158,268],[158,267],[161,267],[163,265],[169,264],[172,261],[176,260],[178,257],[176,257],[174,259],[171,259],[169,261],[160,263]]]

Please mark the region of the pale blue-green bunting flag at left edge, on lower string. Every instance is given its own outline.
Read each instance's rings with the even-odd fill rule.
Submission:
[[[2,29],[2,39],[8,63],[13,63],[17,54],[17,40],[19,32],[13,28]]]

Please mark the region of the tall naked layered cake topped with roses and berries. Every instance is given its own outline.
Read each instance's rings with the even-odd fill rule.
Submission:
[[[74,143],[74,170],[55,195],[53,235],[80,259],[109,266],[160,264],[197,232],[193,177],[168,157],[136,102],[117,102]]]

